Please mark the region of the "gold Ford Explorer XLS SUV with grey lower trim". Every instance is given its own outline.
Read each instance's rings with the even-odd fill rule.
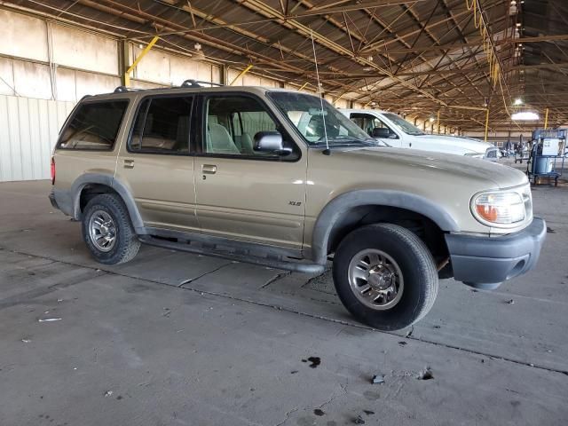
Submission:
[[[100,263],[141,242],[297,272],[329,260],[360,321],[421,319],[438,278],[477,288],[536,264],[546,225],[525,175],[381,146],[317,96],[259,87],[89,96],[51,162],[51,203]]]

